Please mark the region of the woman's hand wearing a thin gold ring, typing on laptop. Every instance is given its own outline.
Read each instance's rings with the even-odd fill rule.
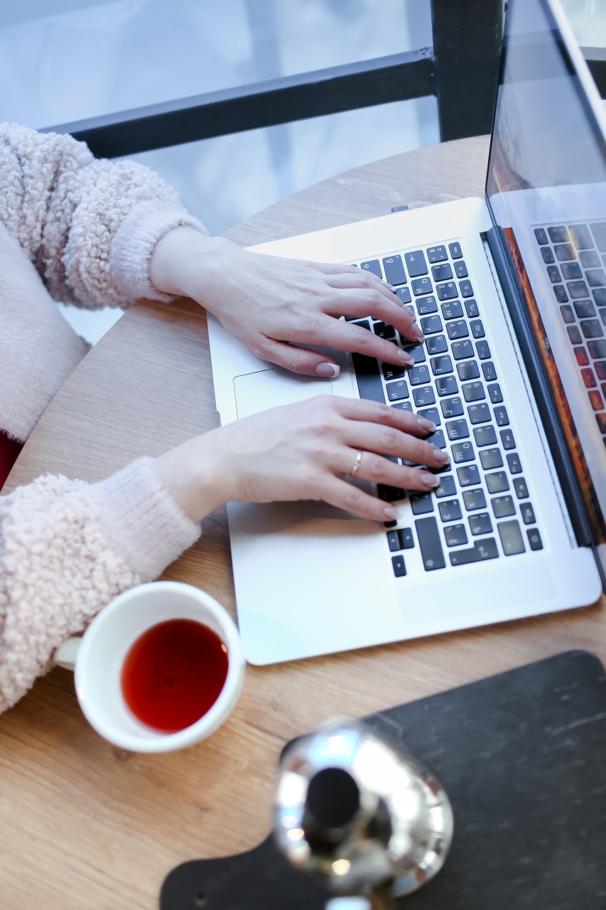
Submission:
[[[432,490],[429,470],[446,452],[421,437],[429,420],[374,401],[318,396],[263,411],[189,440],[156,460],[160,479],[194,521],[227,501],[321,500],[372,521],[391,521],[396,509],[348,482],[359,452],[359,480],[407,490]],[[387,457],[384,457],[387,456]]]

